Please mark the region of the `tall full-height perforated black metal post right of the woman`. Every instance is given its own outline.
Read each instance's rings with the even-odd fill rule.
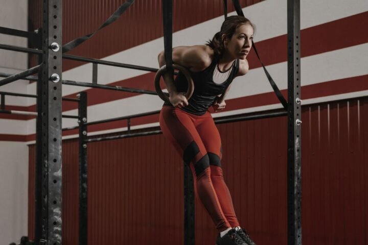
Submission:
[[[288,245],[302,244],[300,0],[288,0]]]

